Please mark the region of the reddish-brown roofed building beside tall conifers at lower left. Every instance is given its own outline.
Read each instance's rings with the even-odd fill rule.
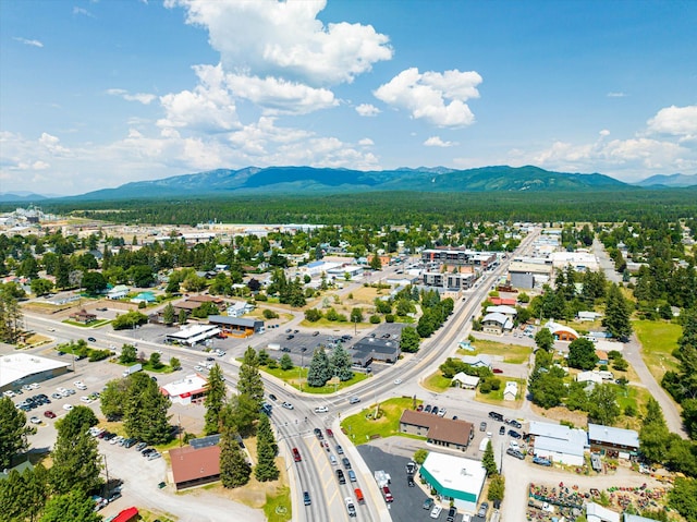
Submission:
[[[193,446],[170,450],[172,478],[176,489],[220,479],[220,446],[196,449]]]

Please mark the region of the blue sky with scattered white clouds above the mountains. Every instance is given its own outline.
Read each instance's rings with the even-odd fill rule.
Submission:
[[[697,172],[697,2],[8,0],[0,192],[216,168]]]

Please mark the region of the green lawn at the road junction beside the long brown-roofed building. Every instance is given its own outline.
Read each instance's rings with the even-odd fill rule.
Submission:
[[[418,405],[421,402],[423,401],[417,400],[416,404]],[[402,412],[413,406],[414,400],[408,397],[388,399],[380,403],[380,412],[382,415],[379,418],[372,420],[369,417],[369,415],[375,413],[375,404],[372,404],[371,406],[366,406],[360,413],[344,418],[341,423],[341,428],[355,445],[368,442],[372,436],[384,438],[401,435],[403,437],[424,440],[425,437],[400,433],[400,417],[402,416]]]

